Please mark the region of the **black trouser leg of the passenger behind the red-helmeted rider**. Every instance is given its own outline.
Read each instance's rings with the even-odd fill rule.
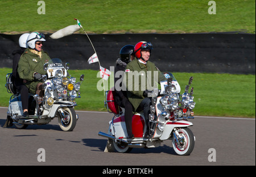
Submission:
[[[123,99],[122,103],[119,105],[122,108],[125,108],[125,125],[127,134],[129,137],[133,136],[133,129],[132,129],[132,121],[133,121],[133,106],[129,102],[128,99]]]

